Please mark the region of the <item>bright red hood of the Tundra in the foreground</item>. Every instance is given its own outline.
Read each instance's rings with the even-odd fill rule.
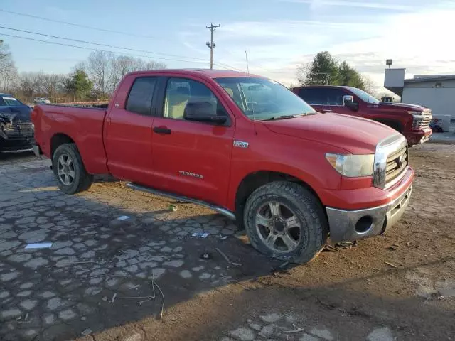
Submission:
[[[378,142],[397,134],[384,124],[343,114],[315,114],[261,123],[274,133],[336,146],[353,154],[375,153]]]

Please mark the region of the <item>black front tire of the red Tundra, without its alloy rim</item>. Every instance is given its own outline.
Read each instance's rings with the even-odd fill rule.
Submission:
[[[301,222],[303,237],[294,251],[274,252],[262,242],[255,225],[256,214],[266,202],[279,202],[294,211]],[[303,186],[288,181],[267,183],[248,197],[244,210],[245,230],[255,249],[267,256],[305,264],[314,260],[326,244],[328,223],[318,199]]]

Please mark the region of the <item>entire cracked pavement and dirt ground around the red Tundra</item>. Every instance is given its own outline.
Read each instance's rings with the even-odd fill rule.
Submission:
[[[49,161],[4,158],[0,340],[453,340],[455,146],[416,146],[411,164],[387,234],[279,268],[210,210],[110,178],[63,195]]]

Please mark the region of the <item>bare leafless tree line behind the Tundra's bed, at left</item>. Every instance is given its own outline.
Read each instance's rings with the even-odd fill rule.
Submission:
[[[33,102],[36,97],[51,102],[106,100],[128,72],[164,68],[166,64],[153,60],[97,50],[66,75],[18,72],[9,46],[0,40],[0,92],[12,93],[23,102]]]

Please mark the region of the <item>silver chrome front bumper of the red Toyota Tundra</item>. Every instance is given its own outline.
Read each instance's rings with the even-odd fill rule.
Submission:
[[[392,202],[365,210],[338,210],[326,207],[330,239],[349,242],[383,234],[400,220],[410,202],[412,186]]]

